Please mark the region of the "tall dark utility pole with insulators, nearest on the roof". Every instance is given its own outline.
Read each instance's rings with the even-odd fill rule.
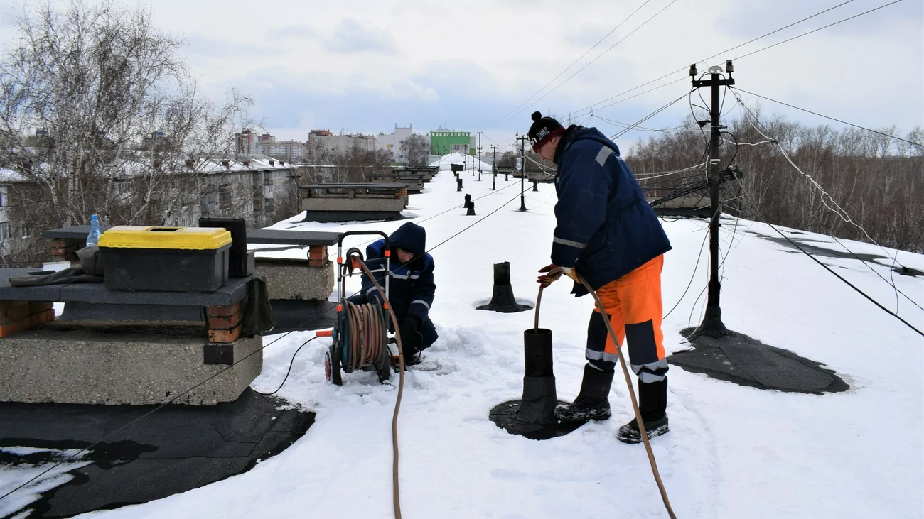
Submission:
[[[731,60],[725,62],[725,73],[728,78],[721,78],[722,67],[711,66],[709,68],[710,79],[699,80],[696,64],[690,66],[689,74],[693,78],[693,88],[699,89],[710,87],[712,94],[711,119],[711,138],[709,141],[709,194],[711,198],[711,220],[709,222],[709,296],[706,300],[706,316],[703,318],[699,328],[693,332],[693,336],[705,334],[709,337],[722,337],[731,332],[725,328],[722,322],[722,308],[719,306],[719,293],[722,283],[719,278],[719,216],[722,213],[722,206],[719,203],[719,145],[722,142],[722,128],[719,123],[719,113],[722,109],[722,103],[719,98],[719,91],[722,87],[728,87],[735,84],[732,78],[732,72],[735,67],[732,66]],[[699,121],[700,127],[704,126],[707,121]]]

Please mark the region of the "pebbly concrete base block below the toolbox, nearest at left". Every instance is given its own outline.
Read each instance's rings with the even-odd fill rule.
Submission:
[[[18,332],[0,340],[0,401],[161,404],[228,368],[204,363],[207,348],[219,347],[227,346],[200,334]],[[231,402],[247,389],[262,369],[262,338],[241,338],[230,347],[231,362],[253,355],[179,396],[177,404]]]

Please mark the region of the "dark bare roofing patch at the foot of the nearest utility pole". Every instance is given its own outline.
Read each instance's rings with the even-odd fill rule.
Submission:
[[[681,332],[688,337],[688,328]],[[736,384],[782,392],[844,392],[847,383],[821,363],[761,344],[743,333],[712,338],[699,335],[690,349],[667,357],[670,364]]]

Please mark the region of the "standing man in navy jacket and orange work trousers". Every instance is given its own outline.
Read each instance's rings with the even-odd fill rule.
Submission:
[[[580,392],[571,404],[555,408],[563,421],[605,420],[611,416],[608,395],[613,383],[616,348],[628,344],[629,362],[638,375],[638,408],[649,438],[667,432],[667,361],[661,330],[661,271],[671,249],[661,222],[642,196],[635,177],[615,143],[592,127],[562,127],[552,117],[532,115],[529,141],[533,151],[558,167],[555,175],[555,230],[552,264],[576,280],[572,293],[588,294],[584,278],[600,297],[590,315],[587,365]],[[576,273],[577,272],[577,273]],[[543,273],[543,286],[561,274]],[[616,343],[603,319],[610,321]],[[627,443],[641,441],[638,423],[616,431]]]

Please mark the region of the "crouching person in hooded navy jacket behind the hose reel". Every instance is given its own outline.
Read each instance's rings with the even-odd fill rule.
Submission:
[[[436,328],[430,320],[430,307],[436,284],[433,283],[433,258],[426,252],[427,233],[416,223],[405,223],[388,236],[391,247],[391,279],[388,299],[398,320],[397,332],[405,354],[405,364],[413,366],[420,362],[420,352],[436,341]],[[375,281],[385,287],[385,239],[382,238],[366,247],[366,265],[375,275]],[[356,304],[368,303],[371,298],[382,302],[382,295],[365,272],[362,274],[362,290],[349,301]],[[395,332],[389,319],[388,328]]]

